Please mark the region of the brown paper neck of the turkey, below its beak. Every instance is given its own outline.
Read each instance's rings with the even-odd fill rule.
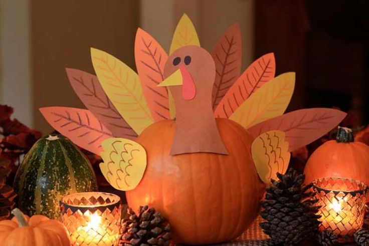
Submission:
[[[211,95],[196,96],[188,101],[182,99],[181,93],[172,93],[176,108],[176,130],[170,154],[228,154],[214,118]]]

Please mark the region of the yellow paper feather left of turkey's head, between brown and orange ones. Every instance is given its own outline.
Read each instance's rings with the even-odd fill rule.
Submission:
[[[91,59],[106,95],[128,125],[140,134],[153,119],[138,75],[106,52],[91,48]]]

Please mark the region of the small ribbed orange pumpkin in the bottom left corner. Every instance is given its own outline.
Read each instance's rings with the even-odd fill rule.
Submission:
[[[67,228],[58,220],[43,215],[31,218],[15,208],[12,220],[0,221],[2,246],[70,246]]]

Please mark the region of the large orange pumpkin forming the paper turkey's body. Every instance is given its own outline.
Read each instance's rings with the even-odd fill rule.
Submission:
[[[251,157],[252,137],[237,123],[217,119],[229,155],[169,154],[175,122],[159,121],[138,137],[147,167],[128,205],[148,204],[169,221],[176,242],[209,244],[240,235],[259,212],[265,185]]]

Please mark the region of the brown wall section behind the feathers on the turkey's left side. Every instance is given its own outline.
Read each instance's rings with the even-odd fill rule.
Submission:
[[[35,127],[51,127],[38,111],[46,106],[83,107],[65,68],[94,73],[90,47],[134,65],[139,2],[131,0],[38,0],[31,7]]]

